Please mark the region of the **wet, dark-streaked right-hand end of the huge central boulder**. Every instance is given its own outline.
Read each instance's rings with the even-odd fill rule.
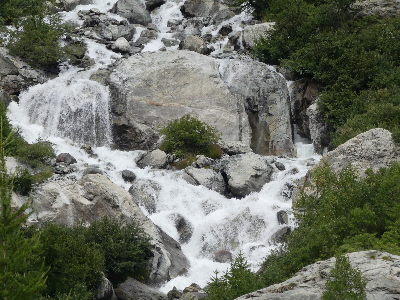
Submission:
[[[252,128],[250,148],[261,155],[296,157],[290,96],[284,78],[268,70],[266,64],[252,60],[224,59],[220,71],[246,102]]]

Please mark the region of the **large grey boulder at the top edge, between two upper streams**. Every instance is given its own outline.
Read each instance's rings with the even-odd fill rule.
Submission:
[[[109,12],[126,18],[131,24],[147,26],[151,23],[151,16],[137,0],[118,0]]]

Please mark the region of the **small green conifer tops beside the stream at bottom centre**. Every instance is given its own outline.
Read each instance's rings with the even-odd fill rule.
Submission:
[[[242,252],[238,253],[230,263],[230,269],[223,272],[222,276],[218,277],[218,270],[214,273],[207,290],[212,300],[232,300],[262,287]]]

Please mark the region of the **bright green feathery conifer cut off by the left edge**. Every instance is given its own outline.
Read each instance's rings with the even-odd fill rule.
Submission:
[[[42,265],[38,272],[28,272],[28,259],[40,250],[39,236],[24,239],[22,231],[30,199],[17,210],[12,207],[14,176],[7,176],[5,159],[12,132],[3,137],[2,121],[0,117],[0,300],[30,300],[46,287],[46,271]]]

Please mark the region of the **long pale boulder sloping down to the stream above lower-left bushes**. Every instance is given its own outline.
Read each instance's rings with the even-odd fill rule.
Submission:
[[[149,284],[184,274],[190,266],[178,242],[144,215],[128,191],[106,176],[89,174],[76,181],[63,178],[42,183],[32,193],[32,204],[39,225],[53,221],[73,226],[103,216],[141,224],[152,244],[153,257],[147,264]]]

